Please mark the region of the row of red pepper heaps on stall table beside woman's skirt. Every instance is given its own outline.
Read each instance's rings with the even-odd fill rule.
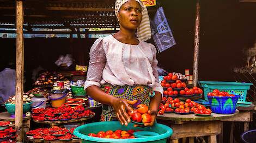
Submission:
[[[32,118],[38,121],[80,119],[94,114],[89,109],[85,110],[82,105],[75,106],[74,108],[69,105],[62,105],[59,108],[36,108],[32,110]]]

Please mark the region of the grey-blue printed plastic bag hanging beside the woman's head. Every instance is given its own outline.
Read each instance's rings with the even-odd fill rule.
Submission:
[[[151,23],[153,39],[159,52],[176,44],[162,7],[156,11],[154,21]]]

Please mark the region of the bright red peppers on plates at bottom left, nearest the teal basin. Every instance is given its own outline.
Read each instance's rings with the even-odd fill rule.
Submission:
[[[44,140],[71,140],[75,138],[72,135],[75,128],[66,129],[58,126],[52,126],[51,128],[38,128],[26,133],[27,136],[33,136],[34,139]]]

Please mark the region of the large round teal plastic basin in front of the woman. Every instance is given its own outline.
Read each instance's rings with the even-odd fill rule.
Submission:
[[[166,143],[168,137],[173,134],[172,128],[162,125],[155,124],[153,127],[133,127],[133,123],[129,123],[128,126],[121,125],[119,121],[109,121],[109,122],[93,122],[90,124],[82,125],[77,127],[74,130],[74,135],[76,137],[82,139],[82,142],[90,143],[90,142],[152,142],[152,143]],[[89,133],[97,133],[100,131],[108,131],[108,130],[129,130],[129,129],[140,129],[142,131],[151,131],[159,133],[159,135],[148,137],[148,138],[136,138],[136,139],[107,139],[107,138],[96,138],[89,137]]]

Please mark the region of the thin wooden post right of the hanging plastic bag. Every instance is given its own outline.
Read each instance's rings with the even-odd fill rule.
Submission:
[[[199,54],[199,33],[200,33],[200,3],[197,0],[196,23],[194,29],[194,67],[193,67],[193,86],[197,86],[198,81],[198,54]]]

